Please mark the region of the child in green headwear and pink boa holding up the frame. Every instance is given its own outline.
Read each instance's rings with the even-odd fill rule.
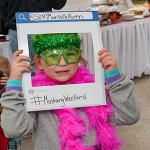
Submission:
[[[37,65],[33,86],[92,82],[93,76],[80,66],[80,42],[78,34],[33,36]],[[98,54],[105,70],[107,105],[26,112],[21,79],[32,67],[22,52],[13,55],[7,91],[1,99],[5,134],[16,138],[32,133],[35,150],[119,150],[113,122],[137,122],[139,107],[133,83],[120,75],[114,56],[106,49]]]

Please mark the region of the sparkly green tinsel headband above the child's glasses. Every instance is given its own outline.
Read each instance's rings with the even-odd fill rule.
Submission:
[[[56,33],[56,34],[33,34],[32,42],[35,54],[43,51],[52,51],[54,49],[74,48],[80,50],[80,36],[77,33]]]

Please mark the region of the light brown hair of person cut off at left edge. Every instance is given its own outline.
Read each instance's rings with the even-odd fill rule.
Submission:
[[[10,74],[9,60],[4,56],[0,56],[0,71],[2,71],[3,73],[6,73],[8,76]]]

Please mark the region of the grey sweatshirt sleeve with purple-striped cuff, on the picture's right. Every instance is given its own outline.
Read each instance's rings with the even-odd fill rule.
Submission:
[[[133,124],[140,118],[138,100],[134,94],[134,83],[125,75],[116,74],[106,80],[106,89],[109,91],[107,100],[114,106],[116,124]]]

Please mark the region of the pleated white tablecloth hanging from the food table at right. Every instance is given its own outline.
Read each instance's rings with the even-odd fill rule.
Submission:
[[[129,78],[150,74],[150,18],[101,28],[102,40]]]

